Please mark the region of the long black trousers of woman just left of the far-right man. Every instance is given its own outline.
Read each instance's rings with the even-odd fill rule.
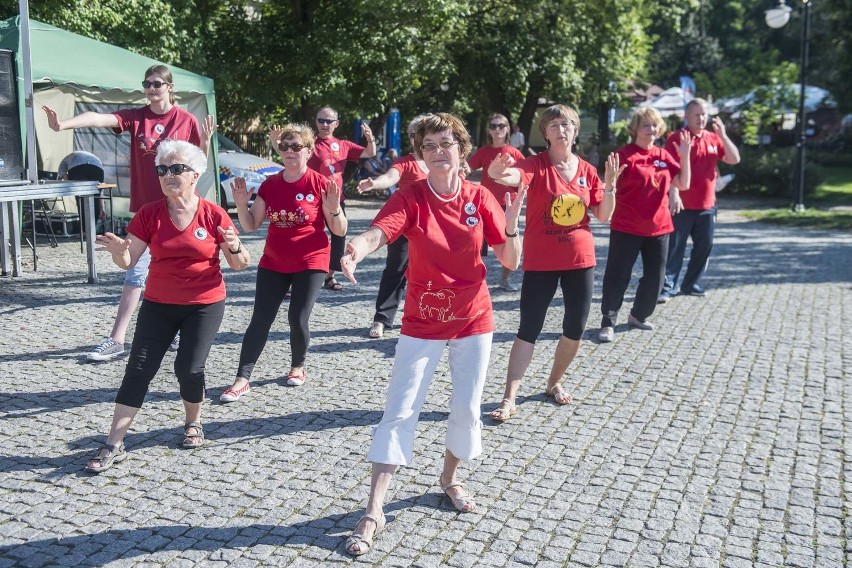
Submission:
[[[642,255],[642,277],[636,288],[633,309],[630,313],[639,321],[654,313],[657,298],[666,277],[666,256],[669,250],[669,235],[643,237],[609,232],[609,253],[606,257],[606,271],[601,295],[601,327],[614,327],[618,320],[618,311],[624,303],[624,293],[630,284],[633,265]]]

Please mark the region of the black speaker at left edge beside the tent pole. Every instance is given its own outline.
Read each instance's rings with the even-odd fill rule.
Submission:
[[[0,181],[20,180],[24,172],[16,87],[15,53],[0,49]]]

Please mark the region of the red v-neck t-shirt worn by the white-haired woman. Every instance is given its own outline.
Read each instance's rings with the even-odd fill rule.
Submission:
[[[151,266],[145,299],[161,304],[214,304],[225,299],[225,281],[219,266],[218,227],[234,222],[224,209],[199,198],[195,218],[179,230],[169,215],[165,198],[143,205],[127,232],[148,243]]]

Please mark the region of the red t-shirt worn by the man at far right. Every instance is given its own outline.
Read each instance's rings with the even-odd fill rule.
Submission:
[[[666,140],[666,150],[677,156],[677,145],[686,129],[672,132]],[[725,157],[725,144],[715,132],[702,130],[692,137],[689,164],[692,167],[689,190],[680,192],[683,208],[706,211],[716,205],[716,163]]]

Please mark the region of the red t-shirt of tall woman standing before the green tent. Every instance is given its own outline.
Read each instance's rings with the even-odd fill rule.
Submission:
[[[183,140],[201,144],[198,119],[173,106],[166,114],[150,107],[126,108],[112,113],[118,119],[113,132],[130,132],[130,211],[139,211],[146,203],[163,199],[154,158],[163,140]]]

